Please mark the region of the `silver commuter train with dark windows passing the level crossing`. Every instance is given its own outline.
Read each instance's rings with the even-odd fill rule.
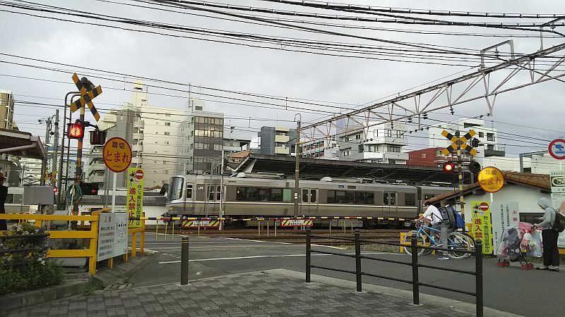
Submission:
[[[221,182],[218,175],[174,176],[169,181],[166,216],[219,216],[220,201],[226,218],[294,215],[294,180],[225,177],[223,197]],[[422,201],[453,190],[354,180],[301,180],[300,189],[299,216],[384,218],[365,220],[365,225],[388,223],[388,218],[414,218],[422,212]]]

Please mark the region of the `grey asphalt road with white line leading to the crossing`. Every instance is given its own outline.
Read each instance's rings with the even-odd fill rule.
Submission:
[[[189,235],[189,278],[205,278],[233,273],[286,268],[304,271],[304,244],[285,244],[280,242],[261,242],[237,240],[221,237],[196,237]],[[129,273],[128,282],[135,286],[159,285],[178,282],[180,278],[181,237],[175,235],[157,235],[147,232],[145,249],[155,251],[155,255],[142,266]],[[328,250],[339,253],[352,253],[333,247],[318,246],[313,249]],[[405,254],[383,254],[366,251],[365,255],[379,259],[410,261]],[[420,256],[424,264],[457,268],[465,271],[475,270],[475,259],[438,261],[434,256]],[[313,254],[311,263],[319,266],[330,266],[355,271],[355,259],[343,256]],[[537,265],[538,263],[536,263]],[[362,271],[394,278],[410,280],[412,268],[383,261],[362,261]],[[496,267],[496,259],[485,259],[484,271],[484,304],[485,306],[518,313],[523,316],[562,316],[565,311],[565,272],[522,271],[518,262],[510,267]],[[312,273],[355,280],[355,275],[326,271],[317,268]],[[463,273],[420,268],[420,280],[432,285],[456,288],[458,290],[475,291],[475,277]],[[364,283],[396,287],[412,290],[412,286],[382,278],[363,276]],[[475,302],[474,297],[466,294],[436,290],[431,287],[420,287],[420,292],[446,297],[446,301],[458,299]]]

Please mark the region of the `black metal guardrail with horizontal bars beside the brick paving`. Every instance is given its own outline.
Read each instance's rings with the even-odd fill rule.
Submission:
[[[342,240],[342,241],[353,241],[355,242],[355,255],[352,254],[340,254],[338,252],[332,252],[332,251],[320,251],[320,250],[312,250],[311,249],[311,238],[323,238],[323,239],[333,239],[333,240]],[[388,260],[388,259],[379,259],[379,258],[375,258],[372,256],[364,256],[361,254],[361,242],[368,242],[368,243],[373,243],[373,244],[387,244],[387,245],[391,245],[391,246],[396,246],[396,247],[410,247],[410,249],[412,250],[412,261],[410,262],[405,262],[405,261],[395,261],[395,260]],[[458,251],[461,253],[468,253],[468,254],[473,254],[475,256],[475,271],[464,271],[464,270],[458,270],[456,268],[445,268],[445,267],[440,267],[440,266],[429,266],[427,264],[422,264],[418,262],[418,249],[431,249],[431,250],[436,250],[436,251]],[[329,255],[333,255],[333,256],[345,256],[348,258],[353,258],[355,259],[355,271],[349,271],[349,270],[343,270],[340,268],[330,268],[328,266],[316,266],[314,264],[311,264],[311,254],[312,253],[319,253],[319,254],[329,254]],[[362,259],[367,259],[367,260],[373,260],[373,261],[382,261],[382,262],[388,262],[388,263],[395,263],[395,264],[400,264],[400,265],[405,265],[405,266],[412,266],[412,280],[404,280],[402,278],[393,278],[391,276],[384,276],[384,275],[379,275],[379,274],[373,274],[373,273],[367,273],[362,271],[361,269],[361,260]],[[335,271],[335,272],[343,272],[343,273],[350,273],[350,274],[355,274],[356,276],[356,281],[357,281],[357,292],[362,292],[362,275],[367,275],[367,276],[371,276],[374,278],[384,278],[386,280],[394,280],[396,282],[404,282],[404,283],[408,283],[408,284],[412,284],[412,302],[415,305],[420,304],[420,286],[425,286],[425,287],[433,287],[439,290],[447,290],[450,292],[458,292],[461,294],[468,294],[470,296],[475,297],[475,303],[476,303],[476,307],[477,307],[477,316],[482,317],[483,316],[483,287],[482,287],[482,242],[481,240],[477,240],[475,242],[475,250],[474,251],[468,251],[465,249],[446,249],[446,248],[438,248],[438,247],[424,247],[421,245],[417,244],[417,240],[416,237],[412,237],[412,240],[410,241],[410,244],[400,244],[400,243],[395,243],[395,242],[378,242],[378,241],[374,241],[374,240],[362,240],[359,234],[359,230],[355,230],[355,235],[353,238],[347,238],[347,237],[327,237],[327,236],[321,236],[321,235],[312,235],[311,234],[311,230],[307,229],[306,232],[306,282],[310,282],[310,275],[311,275],[311,268],[320,268],[323,270],[328,270],[328,271]],[[443,286],[439,286],[439,285],[432,285],[432,284],[428,284],[428,283],[424,283],[424,282],[420,282],[419,279],[419,268],[431,268],[431,269],[436,269],[436,270],[441,270],[441,271],[450,271],[450,272],[455,272],[455,273],[463,273],[463,274],[469,274],[469,275],[475,275],[475,292],[468,292],[465,290],[456,290],[453,288],[449,288],[449,287],[443,287]]]

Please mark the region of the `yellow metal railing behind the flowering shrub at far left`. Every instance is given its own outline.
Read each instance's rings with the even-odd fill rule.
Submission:
[[[96,255],[98,244],[98,222],[99,215],[102,211],[93,211],[91,216],[64,216],[64,215],[33,215],[33,214],[17,214],[7,213],[0,214],[0,219],[6,220],[35,220],[37,227],[42,227],[43,221],[89,221],[90,230],[48,230],[49,239],[88,239],[88,249],[49,249],[47,257],[49,258],[88,258],[88,271],[90,274],[96,274]]]

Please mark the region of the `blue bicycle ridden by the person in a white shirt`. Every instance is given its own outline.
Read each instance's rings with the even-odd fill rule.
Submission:
[[[412,237],[416,236],[416,242],[422,247],[439,247],[441,242],[434,240],[430,232],[439,233],[440,230],[434,229],[424,225],[421,221],[416,223],[417,230],[412,230],[406,233],[404,237],[404,244],[410,244],[412,242]],[[472,238],[471,238],[472,239]],[[474,249],[474,244],[471,246],[468,236],[463,235],[460,232],[450,232],[447,235],[447,248],[453,251],[448,251],[447,256],[451,259],[465,259],[470,256],[470,253],[465,251],[472,251]],[[464,251],[463,251],[464,250]],[[406,254],[412,254],[410,247],[405,247],[404,251]],[[418,255],[429,255],[432,254],[432,249],[418,249]]]

